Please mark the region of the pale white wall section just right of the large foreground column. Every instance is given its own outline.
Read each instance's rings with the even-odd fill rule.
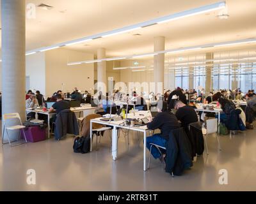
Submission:
[[[40,52],[26,56],[26,77],[30,78],[30,87],[33,92],[39,90],[45,94],[45,53]],[[28,91],[28,90],[26,90]]]

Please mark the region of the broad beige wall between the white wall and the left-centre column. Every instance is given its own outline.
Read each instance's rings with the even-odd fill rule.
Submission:
[[[47,51],[45,59],[47,96],[51,96],[59,89],[63,89],[64,92],[71,92],[74,87],[81,91],[93,92],[93,64],[67,66],[67,62],[93,59],[93,54],[58,48]]]

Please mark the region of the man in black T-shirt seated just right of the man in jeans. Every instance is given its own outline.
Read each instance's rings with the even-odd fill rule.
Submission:
[[[188,131],[189,124],[192,122],[198,122],[198,117],[193,107],[184,104],[182,101],[176,101],[174,108],[177,110],[175,116],[180,120],[181,126],[186,131]]]

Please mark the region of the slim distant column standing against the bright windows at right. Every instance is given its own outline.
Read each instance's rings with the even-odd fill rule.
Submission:
[[[206,60],[213,59],[213,58],[214,58],[213,52],[207,52],[205,54]],[[206,93],[209,93],[210,91],[212,91],[212,69],[213,69],[213,66],[211,64],[213,64],[213,62],[209,61],[209,62],[206,62],[206,66],[205,66],[205,92]]]

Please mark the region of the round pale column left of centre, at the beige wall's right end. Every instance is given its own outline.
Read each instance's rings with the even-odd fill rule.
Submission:
[[[103,59],[106,57],[106,49],[97,49],[97,59]],[[106,61],[98,62],[97,64],[97,81],[98,81],[98,92],[102,91],[102,94],[106,96]]]

